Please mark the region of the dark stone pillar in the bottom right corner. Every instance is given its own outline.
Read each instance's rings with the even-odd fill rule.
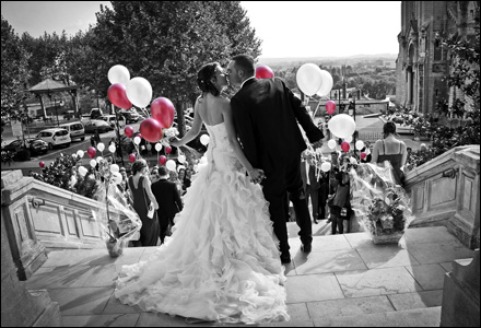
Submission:
[[[479,248],[469,265],[453,262],[453,271],[444,278],[441,327],[480,327]]]

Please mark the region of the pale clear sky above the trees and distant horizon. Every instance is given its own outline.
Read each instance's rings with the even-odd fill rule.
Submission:
[[[1,1],[15,33],[73,35],[109,1]],[[401,1],[241,1],[262,40],[260,58],[398,54]]]

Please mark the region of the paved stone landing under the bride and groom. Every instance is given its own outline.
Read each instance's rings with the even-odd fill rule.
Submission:
[[[315,234],[313,251],[306,255],[300,250],[296,224],[288,225],[291,320],[257,326],[438,327],[444,277],[453,260],[470,262],[473,256],[444,226],[408,229],[399,245],[374,245],[365,233]],[[186,326],[184,317],[145,313],[113,295],[121,266],[146,260],[154,249],[126,248],[118,258],[110,258],[106,249],[50,251],[26,286],[49,292],[60,306],[63,327]]]

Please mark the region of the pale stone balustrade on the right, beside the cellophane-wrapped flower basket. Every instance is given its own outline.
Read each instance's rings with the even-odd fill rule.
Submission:
[[[410,226],[445,225],[471,249],[480,236],[480,145],[454,148],[406,175]]]

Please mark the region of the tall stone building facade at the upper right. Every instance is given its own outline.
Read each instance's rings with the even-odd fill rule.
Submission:
[[[432,113],[437,102],[453,102],[449,57],[439,36],[468,37],[479,25],[478,1],[402,1],[399,54],[396,61],[396,103],[419,114]],[[458,92],[458,94],[456,94]]]

